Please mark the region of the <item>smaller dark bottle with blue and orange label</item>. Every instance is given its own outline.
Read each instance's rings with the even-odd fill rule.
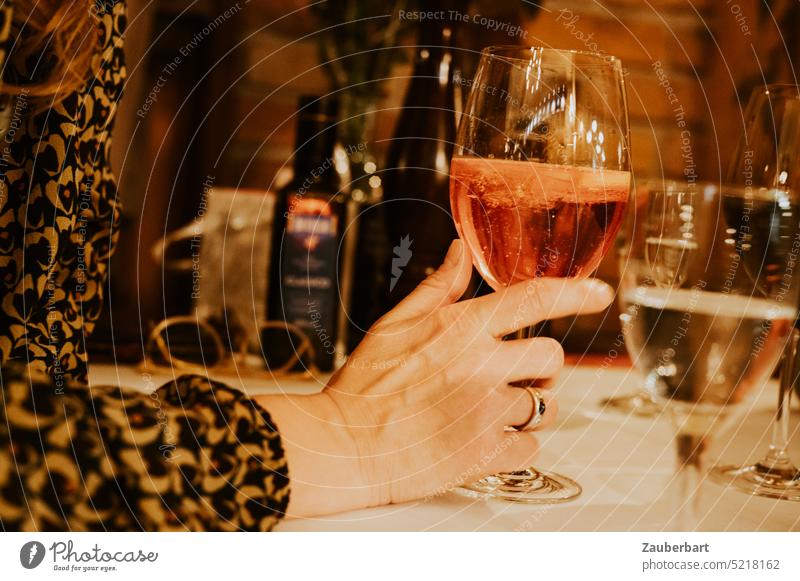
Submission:
[[[301,97],[294,152],[294,177],[278,192],[269,313],[297,325],[311,340],[315,363],[334,365],[337,335],[338,256],[344,221],[339,174],[333,161],[338,103]],[[271,366],[299,348],[296,338],[267,340]]]

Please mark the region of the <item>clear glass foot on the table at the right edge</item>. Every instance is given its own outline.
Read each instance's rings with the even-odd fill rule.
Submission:
[[[711,470],[711,480],[753,496],[800,502],[800,471],[791,464],[717,466]]]

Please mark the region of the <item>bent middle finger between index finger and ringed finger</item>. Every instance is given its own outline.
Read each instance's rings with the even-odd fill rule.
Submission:
[[[502,341],[483,364],[496,383],[553,377],[564,366],[561,343],[549,337]]]

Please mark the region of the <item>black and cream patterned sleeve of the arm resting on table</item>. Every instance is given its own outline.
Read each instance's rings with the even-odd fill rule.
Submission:
[[[12,366],[2,388],[3,530],[266,531],[286,512],[272,419],[225,385],[59,388]]]

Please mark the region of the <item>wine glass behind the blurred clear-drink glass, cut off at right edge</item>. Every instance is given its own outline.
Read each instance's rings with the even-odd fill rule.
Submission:
[[[797,222],[798,180],[800,171],[800,86],[769,85],[758,87],[745,110],[745,132],[732,160],[728,179],[735,183],[751,183],[759,191],[784,196],[781,213]],[[784,236],[791,236],[787,229]],[[770,232],[773,234],[774,231]],[[765,233],[766,234],[766,233]],[[796,234],[795,234],[796,236]],[[745,264],[751,270],[767,272],[786,263],[779,281],[784,304],[794,304],[800,270],[800,237],[790,244],[772,244],[762,238],[755,253],[756,261]],[[779,253],[783,252],[784,255]],[[779,273],[770,273],[773,277]],[[797,331],[795,331],[795,334]],[[798,371],[797,337],[787,344],[779,382],[778,410],[772,429],[772,442],[766,456],[747,466],[718,466],[711,472],[716,482],[733,486],[756,496],[800,501],[800,470],[787,453],[789,443],[789,400]]]

